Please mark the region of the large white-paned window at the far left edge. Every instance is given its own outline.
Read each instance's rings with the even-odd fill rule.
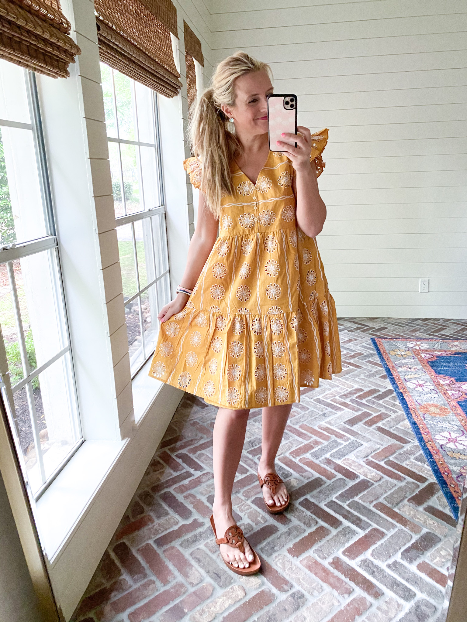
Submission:
[[[35,75],[5,60],[0,236],[0,386],[37,499],[82,434]]]

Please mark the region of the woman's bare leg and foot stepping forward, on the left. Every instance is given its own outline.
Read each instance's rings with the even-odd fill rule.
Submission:
[[[235,525],[232,516],[232,486],[242,456],[245,432],[250,410],[219,408],[212,434],[212,465],[214,468],[214,514],[217,537],[224,537],[226,529]],[[220,545],[220,554],[236,568],[248,568],[253,561],[252,549],[245,541],[245,555],[228,544]]]

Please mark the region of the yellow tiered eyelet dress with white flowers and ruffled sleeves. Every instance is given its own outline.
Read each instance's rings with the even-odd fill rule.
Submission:
[[[328,129],[312,138],[319,176]],[[184,168],[199,188],[200,161]],[[149,376],[231,409],[300,402],[301,386],[341,371],[318,246],[296,223],[288,157],[271,151],[256,185],[230,170],[219,238],[184,309],[161,323]]]

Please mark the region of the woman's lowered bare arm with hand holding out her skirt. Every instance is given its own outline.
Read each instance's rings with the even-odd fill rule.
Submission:
[[[182,287],[193,289],[209,257],[209,253],[212,251],[218,229],[219,220],[216,220],[212,212],[207,208],[205,196],[200,192],[196,229],[188,247],[186,268],[180,282]],[[187,294],[179,292],[171,302],[159,311],[158,320],[166,322],[172,315],[184,308],[188,299],[189,296]]]

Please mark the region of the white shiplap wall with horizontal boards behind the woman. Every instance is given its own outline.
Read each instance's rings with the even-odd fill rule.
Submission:
[[[318,244],[337,312],[466,317],[465,0],[291,4],[197,1],[214,65],[265,60],[299,123],[329,128]]]

